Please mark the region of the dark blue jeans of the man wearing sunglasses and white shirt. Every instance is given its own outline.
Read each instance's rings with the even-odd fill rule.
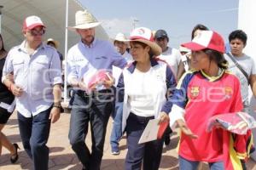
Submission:
[[[49,138],[50,110],[51,108],[29,118],[18,112],[22,144],[27,155],[32,159],[35,170],[48,169],[49,148],[46,143]]]

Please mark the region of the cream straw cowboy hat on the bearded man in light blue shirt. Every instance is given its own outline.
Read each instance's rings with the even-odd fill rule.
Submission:
[[[98,22],[92,14],[89,13],[88,10],[77,11],[75,14],[76,25],[68,26],[67,28],[71,31],[75,31],[76,29],[88,29],[99,26],[101,22]]]

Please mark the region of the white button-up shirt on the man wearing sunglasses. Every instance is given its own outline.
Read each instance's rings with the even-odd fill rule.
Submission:
[[[15,85],[23,89],[16,97],[16,109],[25,117],[46,111],[53,104],[53,86],[62,82],[61,62],[55,48],[41,44],[29,55],[26,41],[9,51],[3,66],[2,82],[14,73]]]

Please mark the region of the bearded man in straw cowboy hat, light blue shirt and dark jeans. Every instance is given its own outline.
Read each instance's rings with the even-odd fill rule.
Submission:
[[[113,81],[102,81],[89,88],[90,77],[97,71],[110,70],[112,66],[124,68],[126,60],[113,44],[95,37],[95,27],[100,25],[88,11],[75,14],[76,25],[68,27],[76,31],[81,40],[67,54],[67,82],[76,88],[71,111],[69,140],[83,169],[98,170],[101,167],[103,144],[108,118],[113,112]],[[100,86],[98,86],[100,85]],[[100,88],[97,88],[100,87]],[[90,131],[91,152],[84,140]]]

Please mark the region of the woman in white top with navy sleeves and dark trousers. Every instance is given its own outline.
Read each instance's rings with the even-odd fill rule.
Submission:
[[[127,133],[128,145],[125,169],[139,170],[143,162],[143,169],[156,170],[160,166],[163,139],[145,144],[138,141],[150,119],[169,120],[166,94],[168,89],[171,89],[168,94],[172,94],[176,80],[171,68],[155,59],[161,48],[148,28],[132,31],[130,46],[134,62],[125,68],[117,86],[118,94],[124,95],[122,130]]]

